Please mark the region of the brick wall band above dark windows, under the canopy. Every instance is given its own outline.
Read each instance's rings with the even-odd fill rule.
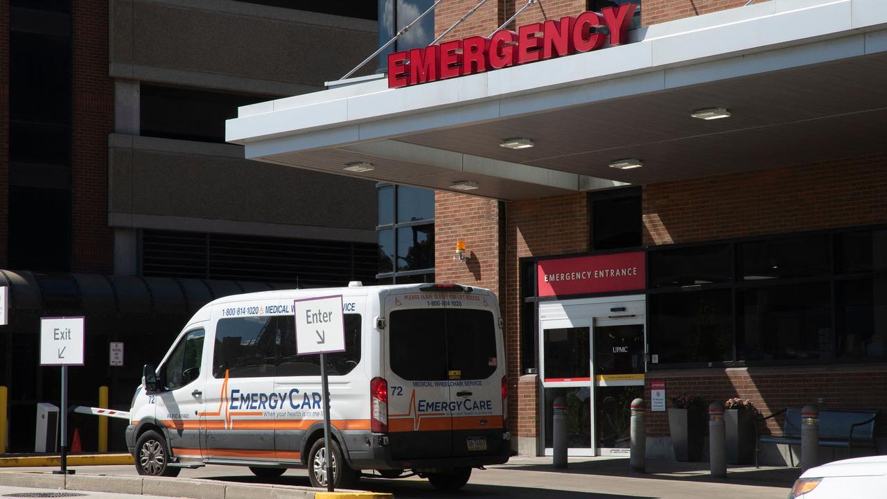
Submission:
[[[651,184],[643,211],[647,245],[887,222],[887,156]]]

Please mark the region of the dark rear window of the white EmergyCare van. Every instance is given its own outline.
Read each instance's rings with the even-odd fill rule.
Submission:
[[[496,323],[488,310],[396,310],[390,323],[391,370],[405,380],[486,379],[496,371]]]

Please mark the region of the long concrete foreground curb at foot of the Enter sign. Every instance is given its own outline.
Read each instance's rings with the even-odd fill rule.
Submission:
[[[318,492],[309,487],[245,485],[208,479],[161,477],[110,477],[104,475],[53,475],[0,471],[0,485],[56,488],[133,495],[161,495],[191,499],[393,499],[394,495],[349,490]]]

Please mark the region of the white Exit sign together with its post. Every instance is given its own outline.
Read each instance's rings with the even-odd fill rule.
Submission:
[[[59,442],[61,470],[56,474],[73,475],[67,469],[67,367],[83,365],[84,328],[82,317],[42,317],[40,319],[40,365],[61,366],[61,405]]]

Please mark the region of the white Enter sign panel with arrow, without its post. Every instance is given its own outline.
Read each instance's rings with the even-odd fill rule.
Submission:
[[[293,312],[299,355],[345,351],[341,295],[295,300]]]

